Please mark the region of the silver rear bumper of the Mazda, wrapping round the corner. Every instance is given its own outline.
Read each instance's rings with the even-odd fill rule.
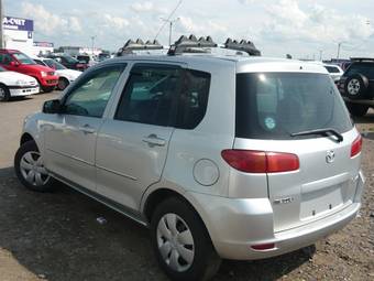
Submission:
[[[352,204],[307,225],[274,231],[273,208],[268,198],[233,199],[189,193],[205,221],[217,252],[226,259],[253,260],[290,252],[343,228],[361,207],[364,177],[360,173]],[[251,246],[274,244],[268,250]]]

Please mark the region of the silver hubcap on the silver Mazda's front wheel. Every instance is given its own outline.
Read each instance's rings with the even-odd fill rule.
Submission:
[[[34,186],[42,186],[50,180],[43,159],[36,151],[29,151],[22,156],[20,170],[24,180]]]

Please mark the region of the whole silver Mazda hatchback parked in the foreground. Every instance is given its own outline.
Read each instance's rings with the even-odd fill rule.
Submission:
[[[312,245],[361,206],[362,138],[328,72],[299,61],[123,56],[29,116],[20,181],[58,180],[150,227],[173,280]]]

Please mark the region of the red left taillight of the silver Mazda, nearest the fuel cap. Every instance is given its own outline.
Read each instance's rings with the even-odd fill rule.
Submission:
[[[280,173],[300,167],[298,156],[292,153],[229,149],[221,155],[230,166],[245,173]]]

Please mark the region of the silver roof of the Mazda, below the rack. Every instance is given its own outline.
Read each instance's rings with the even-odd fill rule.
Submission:
[[[212,54],[183,54],[183,55],[124,55],[107,60],[109,62],[165,62],[185,63],[212,66],[231,66],[237,68],[237,73],[245,72],[298,72],[298,73],[321,73],[328,74],[327,69],[320,64],[310,64],[297,60],[244,56],[244,55],[212,55]],[[209,67],[208,67],[209,66]]]

